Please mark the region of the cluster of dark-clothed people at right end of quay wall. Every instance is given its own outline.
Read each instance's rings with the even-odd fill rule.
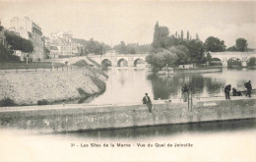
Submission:
[[[252,90],[251,81],[245,82],[244,86],[247,89],[245,95],[248,96],[248,97],[251,97],[251,90]],[[224,86],[225,99],[230,99],[230,94],[229,94],[230,91],[231,91],[231,85],[230,84]],[[232,94],[233,94],[233,96],[241,96],[242,95],[241,91],[237,91],[235,88],[232,88]]]

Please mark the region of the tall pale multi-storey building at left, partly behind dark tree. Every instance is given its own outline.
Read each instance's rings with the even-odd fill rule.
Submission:
[[[30,54],[32,61],[40,61],[45,58],[43,51],[44,41],[42,39],[41,27],[33,23],[28,17],[14,17],[11,20],[9,29],[15,31],[23,38],[32,40],[33,53]],[[22,61],[26,55],[27,54],[21,52],[20,57]]]

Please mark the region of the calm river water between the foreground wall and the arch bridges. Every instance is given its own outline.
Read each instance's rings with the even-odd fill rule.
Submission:
[[[109,76],[106,90],[91,103],[141,102],[145,92],[151,98],[171,99],[181,97],[181,87],[187,83],[197,97],[224,96],[224,85],[231,84],[237,90],[245,90],[244,82],[252,81],[256,87],[256,70],[223,69],[218,73],[174,74],[158,76],[145,69],[112,68],[105,73]]]

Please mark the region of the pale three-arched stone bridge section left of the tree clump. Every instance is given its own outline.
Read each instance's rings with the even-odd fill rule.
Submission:
[[[91,55],[89,58],[96,61],[97,64],[108,64],[112,67],[137,67],[138,63],[144,63],[146,66],[147,54],[120,54],[120,55]]]

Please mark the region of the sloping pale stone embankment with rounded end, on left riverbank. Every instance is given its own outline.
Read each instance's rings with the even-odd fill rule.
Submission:
[[[17,105],[34,105],[85,98],[105,90],[106,76],[96,70],[12,73],[0,75],[0,100],[10,98]]]

